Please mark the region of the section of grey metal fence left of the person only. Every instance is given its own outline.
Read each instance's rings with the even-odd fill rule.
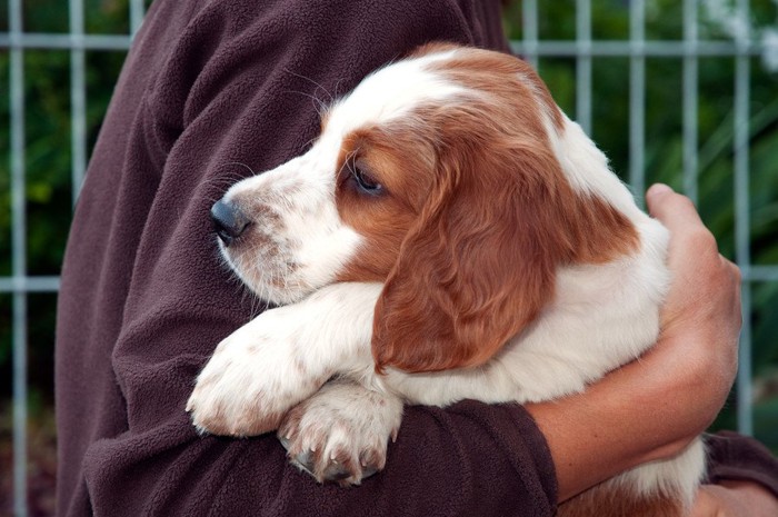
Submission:
[[[68,33],[31,33],[24,31],[22,1],[8,1],[8,32],[0,33],[0,49],[9,52],[9,84],[11,128],[11,277],[0,278],[0,294],[10,292],[13,298],[13,513],[28,515],[27,505],[27,358],[28,358],[28,295],[56,292],[58,277],[33,277],[27,268],[26,217],[26,103],[24,67],[26,50],[70,51],[71,102],[71,176],[73,202],[87,169],[87,50],[126,52],[132,36],[142,22],[143,0],[130,0],[128,19],[130,33],[126,36],[91,34],[84,32],[84,1],[69,0]]]

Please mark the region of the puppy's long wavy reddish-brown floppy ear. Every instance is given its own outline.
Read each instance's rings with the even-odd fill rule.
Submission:
[[[557,265],[569,256],[569,185],[550,151],[455,149],[442,155],[376,306],[379,371],[486,362],[553,297]]]

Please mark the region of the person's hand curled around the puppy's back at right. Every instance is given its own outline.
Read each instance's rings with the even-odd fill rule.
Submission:
[[[737,374],[740,271],[719,255],[716,239],[687,197],[655,185],[646,199],[650,213],[670,230],[672,272],[660,340],[648,356],[665,362],[652,375],[666,382],[668,397],[685,398],[679,409],[691,414],[679,421],[688,424],[691,439],[716,417]],[[685,439],[676,444],[684,445]]]

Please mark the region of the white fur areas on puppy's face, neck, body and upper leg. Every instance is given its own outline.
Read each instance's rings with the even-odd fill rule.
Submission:
[[[362,239],[338,217],[333,168],[348,131],[401,117],[420,102],[443,102],[462,95],[461,86],[425,69],[450,56],[400,61],[370,76],[331,108],[326,130],[309,152],[241,181],[226,195],[230,199],[250,192],[277,210],[285,221],[279,241],[291,249],[299,268],[281,289],[268,285],[260,274],[246,272],[272,268],[267,257],[261,265],[246,266],[235,264],[226,250],[252,289],[271,301],[291,305],[266,311],[219,346],[189,400],[201,430],[208,430],[203,422],[217,411],[240,422],[288,410],[332,376],[353,379],[389,399],[417,404],[446,406],[463,398],[549,400],[582,391],[656,342],[658,310],[669,284],[665,266],[668,233],[637,208],[629,190],[609,170],[606,157],[578,125],[565,118],[563,130],[557,131],[546,116],[551,148],[570,183],[581,196],[599,196],[624,213],[638,231],[639,251],[606,265],[558,270],[553,302],[480,368],[375,372],[370,339],[382,286],[331,284]],[[268,407],[258,408],[253,402],[258,398],[268,400]],[[268,420],[266,430],[273,425]],[[243,435],[245,429],[237,427],[232,434]],[[689,501],[702,469],[704,453],[696,443],[677,460],[640,467],[614,483],[627,483],[641,493],[675,487]]]

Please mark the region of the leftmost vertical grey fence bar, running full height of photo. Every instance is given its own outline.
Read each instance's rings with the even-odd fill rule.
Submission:
[[[11,109],[11,262],[13,281],[13,514],[27,517],[27,215],[24,51],[21,0],[9,0]]]

